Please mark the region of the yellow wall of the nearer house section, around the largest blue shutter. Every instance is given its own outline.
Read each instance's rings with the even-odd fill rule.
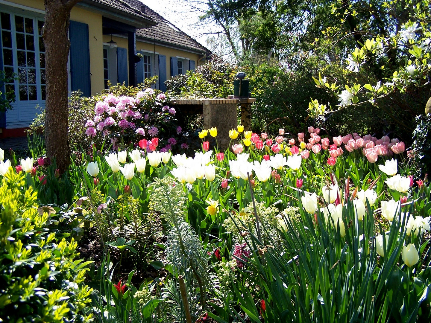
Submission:
[[[45,10],[43,0],[9,0],[22,6]],[[90,71],[91,94],[94,95],[103,90],[103,32],[102,16],[79,7],[72,8],[70,19],[76,22],[88,24],[88,37],[90,45]]]

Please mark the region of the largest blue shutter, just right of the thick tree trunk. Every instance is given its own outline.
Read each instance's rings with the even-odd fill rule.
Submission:
[[[81,90],[84,96],[91,96],[88,25],[70,21],[69,39],[71,90]]]

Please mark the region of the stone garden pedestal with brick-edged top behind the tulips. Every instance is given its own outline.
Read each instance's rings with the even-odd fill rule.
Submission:
[[[252,102],[256,102],[256,99],[180,99],[170,103],[178,106],[181,113],[188,113],[189,110],[193,110],[195,113],[202,111],[203,128],[217,127],[217,143],[219,144],[219,149],[224,150],[228,148],[231,141],[229,130],[237,128],[238,104],[241,105],[241,124],[244,125],[244,130],[251,130]],[[200,110],[200,107],[202,107],[202,110]]]

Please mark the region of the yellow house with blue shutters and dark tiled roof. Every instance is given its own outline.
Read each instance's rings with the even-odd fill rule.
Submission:
[[[24,134],[45,106],[43,0],[0,0],[0,69],[16,75],[13,109],[0,112],[0,137]],[[69,90],[84,96],[111,84],[164,81],[203,64],[210,51],[137,0],[82,0],[71,11]],[[136,54],[141,53],[138,61]],[[37,109],[39,106],[40,109]]]

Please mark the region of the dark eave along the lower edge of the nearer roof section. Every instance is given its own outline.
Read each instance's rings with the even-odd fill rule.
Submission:
[[[116,20],[118,22],[123,22],[125,24],[140,28],[150,28],[151,26],[157,25],[156,22],[150,18],[144,18],[137,15],[132,15],[128,12],[122,11],[120,9],[107,6],[103,3],[93,1],[93,0],[82,0],[77,4],[77,6],[84,7],[85,9],[97,13],[101,13],[102,16]]]

